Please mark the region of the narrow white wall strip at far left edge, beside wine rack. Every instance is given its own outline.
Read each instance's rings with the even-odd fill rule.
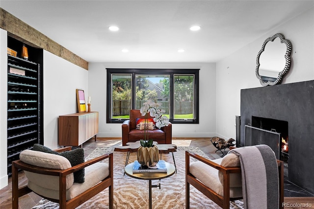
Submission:
[[[0,29],[0,188],[8,183],[7,175],[7,31]]]

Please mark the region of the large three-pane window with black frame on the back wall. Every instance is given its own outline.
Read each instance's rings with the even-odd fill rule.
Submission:
[[[199,69],[106,70],[107,123],[123,123],[148,100],[161,104],[171,123],[199,122]]]

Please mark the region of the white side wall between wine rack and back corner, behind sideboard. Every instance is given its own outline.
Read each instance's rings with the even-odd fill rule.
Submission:
[[[44,50],[44,145],[58,148],[59,115],[78,112],[76,89],[88,95],[88,71]]]

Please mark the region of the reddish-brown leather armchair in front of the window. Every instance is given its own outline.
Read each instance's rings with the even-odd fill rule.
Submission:
[[[148,118],[152,118],[149,114]],[[130,120],[124,121],[122,124],[122,145],[126,146],[128,142],[135,142],[144,139],[144,130],[136,129],[136,119],[146,118],[142,116],[138,109],[130,110]],[[158,144],[172,144],[172,124],[160,129],[146,130],[146,138],[154,139]]]

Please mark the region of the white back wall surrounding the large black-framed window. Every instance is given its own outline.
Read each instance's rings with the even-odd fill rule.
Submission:
[[[99,112],[99,137],[121,137],[121,124],[106,123],[106,68],[200,69],[200,123],[173,124],[173,137],[209,137],[216,133],[215,63],[89,63],[88,89],[92,111]]]

